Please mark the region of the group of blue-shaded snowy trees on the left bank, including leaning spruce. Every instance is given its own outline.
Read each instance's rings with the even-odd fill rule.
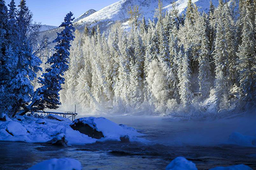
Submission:
[[[69,12],[60,25],[63,31],[53,41],[56,45],[47,59],[49,66],[40,73],[40,56],[48,49],[47,38],[37,45],[40,25],[32,23],[26,0],[20,1],[18,9],[14,0],[8,6],[0,0],[0,111],[15,116],[58,108],[65,80],[62,76],[68,69],[70,42],[74,39],[73,14]]]

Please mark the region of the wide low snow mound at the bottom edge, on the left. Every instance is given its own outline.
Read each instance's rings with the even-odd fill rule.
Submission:
[[[28,170],[81,170],[82,164],[72,158],[53,158],[49,160],[42,161],[32,167],[30,167]]]

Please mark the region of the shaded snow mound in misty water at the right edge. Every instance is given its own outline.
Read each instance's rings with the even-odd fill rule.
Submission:
[[[242,135],[241,133],[238,132],[233,132],[229,136],[228,142],[231,144],[256,147],[256,137]]]

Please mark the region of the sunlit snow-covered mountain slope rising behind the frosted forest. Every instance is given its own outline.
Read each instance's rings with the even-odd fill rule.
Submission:
[[[180,13],[184,12],[187,7],[188,0],[162,0],[164,11],[173,9],[172,3],[176,2],[177,9]],[[192,0],[199,7],[199,11],[207,12],[209,10],[210,0]],[[218,0],[212,0],[215,6],[218,5]],[[82,25],[86,22],[93,21],[116,21],[125,20],[129,18],[127,9],[130,6],[139,5],[142,15],[146,19],[153,19],[155,15],[155,9],[158,8],[158,0],[120,0],[111,5],[108,5],[87,17],[79,19],[76,23]]]

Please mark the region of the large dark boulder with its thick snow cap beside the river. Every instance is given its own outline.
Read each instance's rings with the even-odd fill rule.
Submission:
[[[84,126],[81,126],[84,124]],[[77,127],[79,125],[79,127]],[[70,126],[75,130],[80,130],[80,132],[92,136],[97,132],[97,138],[101,138],[100,134],[102,133],[103,140],[121,140],[120,137],[129,138],[130,141],[138,140],[137,136],[142,135],[134,128],[128,127],[126,125],[118,125],[104,117],[83,117],[75,119]],[[91,128],[85,128],[85,127]],[[87,131],[87,130],[93,131]],[[93,137],[93,136],[92,136]]]

